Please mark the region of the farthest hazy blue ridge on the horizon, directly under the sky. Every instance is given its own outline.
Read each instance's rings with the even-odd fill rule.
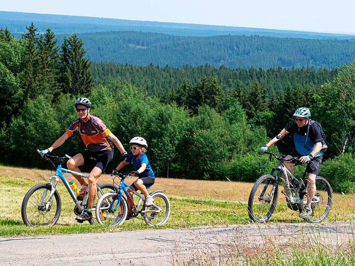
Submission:
[[[50,27],[56,34],[108,31],[142,31],[181,36],[258,35],[279,38],[351,39],[355,35],[302,31],[283,31],[245,27],[210,26],[202,24],[168,23],[153,21],[118,20],[112,18],[48,15],[0,11],[0,27],[13,33],[26,32],[26,25],[34,22],[39,32]]]

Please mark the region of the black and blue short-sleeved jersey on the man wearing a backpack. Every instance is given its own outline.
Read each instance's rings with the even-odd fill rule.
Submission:
[[[308,123],[310,122],[311,120]],[[310,124],[309,131],[308,131],[308,123],[303,127],[298,127],[296,121],[293,120],[289,122],[285,127],[286,131],[290,133],[294,133],[293,140],[295,142],[296,151],[301,155],[309,155],[314,149],[314,147],[316,146],[316,143],[323,141],[321,129],[317,125],[317,123]],[[307,131],[308,131],[308,135],[307,135]],[[322,155],[323,155],[323,151],[321,150],[314,157],[318,157]]]

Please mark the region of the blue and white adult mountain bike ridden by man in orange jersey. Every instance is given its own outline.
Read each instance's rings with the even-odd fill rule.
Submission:
[[[37,151],[39,152],[39,150]],[[54,166],[55,174],[49,177],[47,183],[34,185],[24,196],[21,206],[21,215],[23,223],[27,226],[54,226],[56,224],[61,212],[60,195],[58,190],[55,189],[59,179],[61,179],[75,203],[74,213],[76,215],[81,215],[87,206],[89,186],[86,190],[86,195],[79,201],[63,173],[76,174],[77,176],[85,178],[87,178],[88,175],[62,168],[62,164],[71,159],[69,155],[58,157],[45,154],[43,158]],[[114,190],[115,186],[110,183],[97,185],[97,198],[108,191]],[[89,222],[94,224],[94,218]]]

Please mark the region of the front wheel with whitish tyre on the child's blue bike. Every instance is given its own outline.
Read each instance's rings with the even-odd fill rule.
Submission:
[[[119,226],[124,223],[127,217],[127,201],[122,196],[120,200],[120,205],[115,212],[112,212],[108,207],[117,197],[118,193],[106,193],[98,201],[95,209],[95,216],[100,225],[115,225]],[[114,204],[114,207],[116,204]]]

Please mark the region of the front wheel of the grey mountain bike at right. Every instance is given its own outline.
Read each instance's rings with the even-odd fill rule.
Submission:
[[[272,176],[271,174],[265,174],[259,177],[258,180],[253,185],[253,188],[250,191],[248,206],[247,206],[247,211],[250,220],[257,223],[266,223],[270,219],[271,215],[275,210],[277,204],[277,198],[278,198],[278,186],[276,186],[275,192],[273,194],[273,198],[267,199],[267,195],[269,195],[269,193],[271,192],[274,182],[275,182],[274,176]],[[265,189],[262,200],[260,200],[259,199],[260,195],[262,193],[262,190],[265,188],[266,183],[267,183],[267,187]],[[262,185],[261,188],[259,187],[260,185]],[[259,195],[256,198],[257,194]],[[256,198],[256,202],[254,202],[255,198]]]

